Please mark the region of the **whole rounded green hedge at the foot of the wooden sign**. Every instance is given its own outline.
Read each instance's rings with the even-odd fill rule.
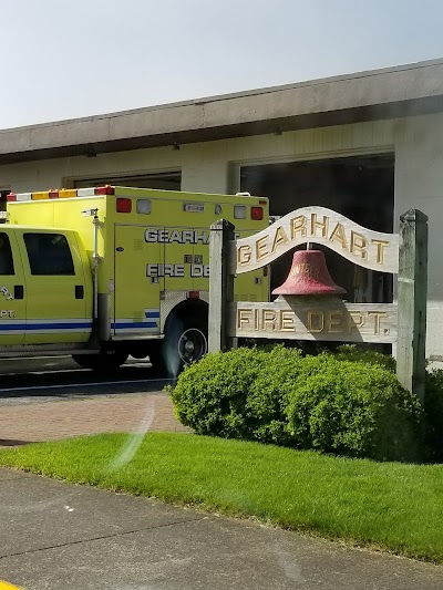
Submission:
[[[443,372],[430,379],[439,397]],[[208,354],[172,397],[198,434],[379,460],[419,460],[424,439],[434,448],[437,438],[440,418],[431,424],[401,387],[393,359],[349,345],[316,356],[284,346]]]

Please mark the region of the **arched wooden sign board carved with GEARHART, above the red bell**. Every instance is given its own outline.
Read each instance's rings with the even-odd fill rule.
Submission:
[[[257,270],[307,242],[327,246],[371,270],[399,271],[396,234],[372,231],[324,207],[303,207],[258,234],[237,240],[234,272]]]

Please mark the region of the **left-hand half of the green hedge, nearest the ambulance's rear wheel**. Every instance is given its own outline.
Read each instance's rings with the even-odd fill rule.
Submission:
[[[288,444],[281,384],[297,377],[296,349],[238,349],[188,366],[172,392],[181,422],[198,434]]]

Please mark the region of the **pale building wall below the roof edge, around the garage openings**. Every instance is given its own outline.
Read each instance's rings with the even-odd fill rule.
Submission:
[[[182,169],[182,189],[235,193],[241,164],[359,154],[395,154],[395,214],[419,208],[430,217],[427,354],[443,342],[443,114],[238,137],[200,144],[29,162],[0,167],[0,188],[14,192],[72,186],[89,176]]]

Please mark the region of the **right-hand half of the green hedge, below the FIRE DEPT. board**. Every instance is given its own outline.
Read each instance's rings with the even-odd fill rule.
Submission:
[[[381,364],[307,359],[309,373],[287,392],[287,416],[298,448],[379,460],[416,460],[421,406]]]

